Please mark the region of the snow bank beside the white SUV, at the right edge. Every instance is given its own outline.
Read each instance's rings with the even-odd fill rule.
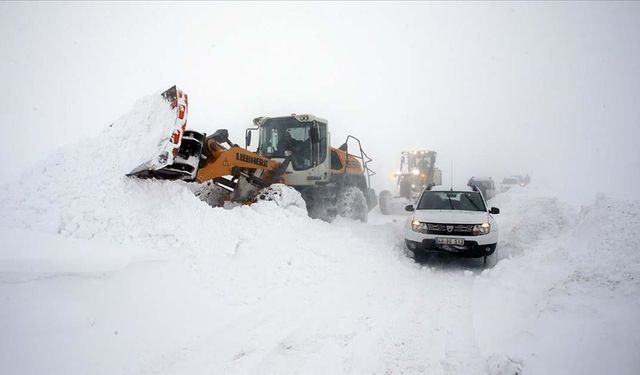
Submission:
[[[493,204],[514,209],[501,218],[506,259],[474,285],[479,346],[495,373],[635,373],[640,202],[599,196],[578,212],[519,191]]]

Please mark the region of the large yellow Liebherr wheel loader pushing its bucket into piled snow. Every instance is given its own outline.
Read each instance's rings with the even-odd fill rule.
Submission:
[[[215,205],[271,200],[284,184],[302,195],[311,217],[331,221],[337,215],[366,221],[377,203],[370,188],[375,173],[360,140],[348,136],[331,147],[328,122],[310,114],[258,117],[246,130],[245,147],[229,140],[226,129],[212,135],[186,129],[188,98],[172,87],[162,96],[176,110],[176,125],[158,155],[127,176],[193,181],[215,189]],[[256,152],[247,147],[258,132]],[[349,144],[357,146],[349,153]],[[209,200],[211,203],[212,200]]]

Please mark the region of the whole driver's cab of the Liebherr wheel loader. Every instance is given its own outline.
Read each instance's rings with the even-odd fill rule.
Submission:
[[[311,185],[330,178],[327,121],[313,115],[254,120],[258,126],[257,153],[283,161],[290,155],[287,179],[291,185]]]

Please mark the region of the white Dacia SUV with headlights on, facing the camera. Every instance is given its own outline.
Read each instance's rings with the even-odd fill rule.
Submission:
[[[466,257],[486,257],[498,244],[498,223],[493,215],[500,210],[487,209],[476,187],[447,189],[427,187],[417,205],[408,205],[413,214],[407,220],[404,243],[407,254],[441,252]]]

